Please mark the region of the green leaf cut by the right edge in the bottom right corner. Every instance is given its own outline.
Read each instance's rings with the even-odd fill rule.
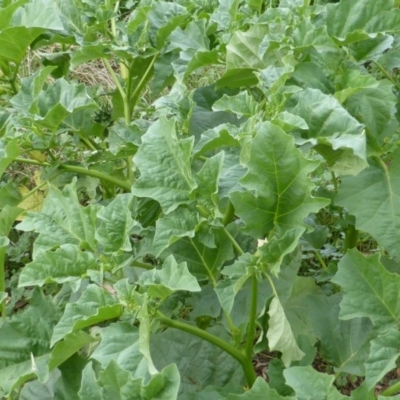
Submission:
[[[396,368],[400,355],[400,332],[397,326],[378,334],[371,340],[370,356],[365,363],[365,381],[368,389],[375,385],[391,370]]]

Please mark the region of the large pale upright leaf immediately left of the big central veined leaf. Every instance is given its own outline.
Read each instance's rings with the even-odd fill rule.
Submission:
[[[157,200],[166,214],[187,204],[197,186],[190,167],[193,139],[178,139],[174,125],[164,118],[155,122],[134,157],[141,175],[133,193]]]

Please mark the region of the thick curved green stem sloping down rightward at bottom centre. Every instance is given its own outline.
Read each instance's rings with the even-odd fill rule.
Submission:
[[[219,347],[233,358],[235,358],[242,366],[244,375],[246,377],[247,384],[251,387],[256,380],[256,374],[254,372],[253,364],[251,359],[249,360],[240,350],[236,349],[231,344],[225,342],[218,336],[215,336],[203,329],[198,328],[197,326],[189,325],[185,322],[180,322],[168,318],[166,315],[162,314],[160,311],[157,311],[157,317],[163,322],[165,325],[170,328],[179,329],[181,331],[190,333],[195,335],[201,339],[206,340],[207,342]]]

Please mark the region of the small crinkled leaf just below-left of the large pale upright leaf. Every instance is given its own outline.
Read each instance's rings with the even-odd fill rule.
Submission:
[[[139,225],[131,216],[132,199],[131,194],[120,194],[97,213],[99,225],[96,229],[96,240],[105,253],[132,250],[129,235],[132,228]],[[140,230],[140,225],[138,228]]]

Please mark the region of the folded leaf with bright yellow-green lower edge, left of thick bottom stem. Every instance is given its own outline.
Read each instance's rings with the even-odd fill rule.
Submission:
[[[89,285],[75,303],[68,303],[54,327],[51,344],[54,345],[67,334],[97,323],[118,318],[122,305],[107,290]]]

